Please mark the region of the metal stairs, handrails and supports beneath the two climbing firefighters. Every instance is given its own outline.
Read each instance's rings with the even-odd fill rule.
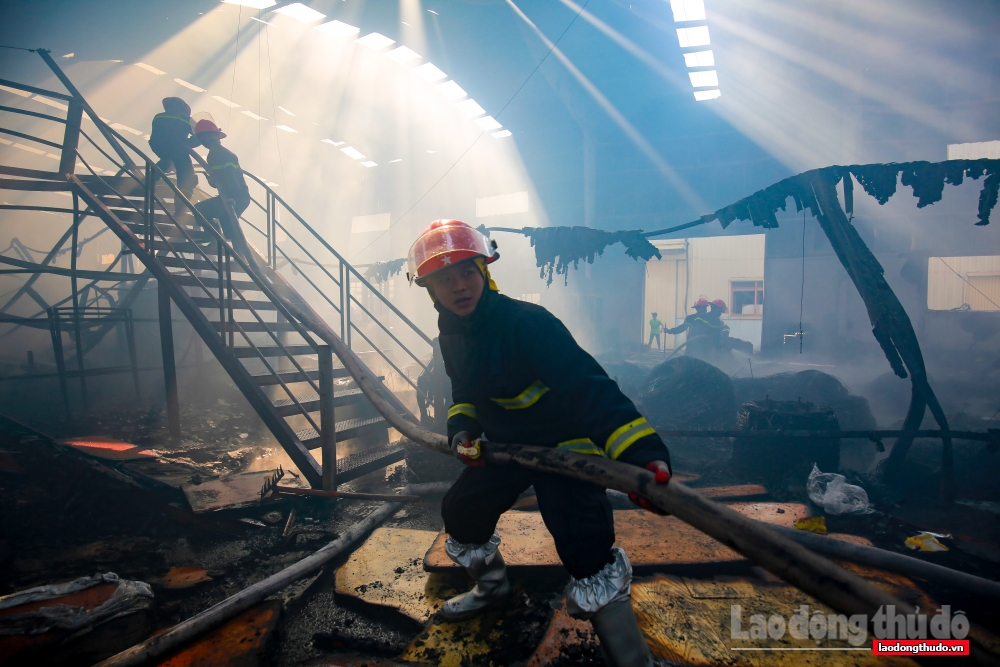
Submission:
[[[45,172],[0,166],[0,174],[13,177],[0,178],[0,189],[68,192],[73,197],[74,207],[72,210],[60,209],[59,212],[71,212],[73,226],[57,242],[41,264],[12,260],[7,257],[0,258],[0,262],[14,263],[15,266],[18,266],[18,272],[35,274],[29,278],[27,285],[17,290],[15,299],[8,305],[25,294],[30,294],[31,285],[40,275],[53,273],[68,275],[71,278],[73,294],[58,304],[46,303],[46,312],[53,307],[62,305],[67,300],[73,302],[75,313],[79,313],[81,308],[87,307],[88,304],[81,306],[79,303],[78,279],[83,277],[99,281],[105,278],[107,272],[78,269],[75,250],[77,249],[80,221],[88,216],[98,217],[122,242],[123,248],[115,265],[123,256],[132,255],[137,257],[146,267],[146,271],[142,274],[112,274],[115,276],[115,280],[128,280],[133,283],[126,297],[131,296],[134,300],[134,297],[138,296],[138,292],[145,287],[150,278],[157,281],[169,432],[174,436],[180,433],[171,317],[171,303],[173,303],[192,324],[195,332],[208,345],[214,356],[222,363],[227,373],[236,382],[244,396],[249,399],[254,410],[261,416],[265,425],[288,452],[310,484],[328,489],[336,488],[338,436],[340,439],[348,439],[372,432],[373,429],[386,429],[388,426],[385,421],[381,417],[351,419],[341,424],[335,421],[335,408],[338,404],[355,403],[358,402],[356,399],[363,400],[364,397],[358,390],[336,391],[335,378],[346,377],[348,374],[343,366],[334,366],[334,355],[330,348],[322,344],[321,341],[317,341],[309,329],[282,305],[271,291],[268,281],[261,279],[258,272],[251,268],[247,258],[241,256],[240,252],[234,251],[230,242],[205,220],[200,211],[194,208],[191,201],[180,192],[175,183],[166,178],[166,175],[151,158],[101,121],[48,52],[38,50],[36,53],[70,92],[69,95],[11,81],[0,80],[0,83],[30,95],[65,101],[67,103],[67,119],[63,120],[49,114],[37,114],[14,107],[0,107],[0,111],[24,112],[23,115],[44,117],[46,120],[65,123],[63,143],[58,145],[60,148],[59,171]],[[91,137],[82,129],[84,116],[97,127],[99,137]],[[17,136],[28,141],[37,141],[46,146],[57,146],[55,142],[16,130],[0,128],[0,133]],[[98,171],[106,170],[95,169],[87,162],[80,150],[81,137],[86,142],[85,146],[96,150],[103,158],[114,164],[113,176],[100,175]],[[99,138],[103,138],[103,144],[99,143],[97,140]],[[194,156],[200,160],[197,154]],[[75,173],[78,163],[84,167],[83,173],[79,175]],[[352,333],[358,334],[361,340],[365,341],[373,351],[376,351],[390,368],[419,392],[420,390],[407,373],[400,369],[376,343],[372,335],[374,332],[366,332],[361,327],[361,323],[354,321],[351,317],[352,303],[360,312],[367,315],[371,322],[377,325],[377,330],[384,332],[388,340],[392,340],[413,359],[419,368],[426,368],[424,362],[420,356],[400,340],[399,336],[393,333],[391,328],[382,321],[382,318],[376,317],[357,296],[352,294],[352,282],[369,290],[378,301],[385,305],[389,313],[403,323],[404,330],[409,329],[418,340],[428,345],[431,344],[431,339],[385,299],[356,268],[337,253],[270,187],[252,174],[247,174],[247,176],[264,188],[264,195],[253,199],[254,204],[266,214],[264,229],[254,225],[246,218],[243,218],[242,221],[264,236],[267,257],[266,260],[261,257],[261,260],[266,262],[265,266],[276,271],[279,258],[283,259],[286,265],[290,266],[296,275],[303,276],[309,287],[318,292],[337,313],[340,319],[341,335],[345,340],[350,341]],[[263,204],[259,201],[260,199],[263,200]],[[85,206],[83,209],[80,208],[81,202]],[[177,202],[182,202],[187,206],[186,215],[177,216],[171,212],[168,205]],[[54,207],[5,206],[4,208],[42,210]],[[303,240],[300,240],[287,225],[279,221],[278,212],[281,208],[288,211],[305,230]],[[232,211],[230,214],[233,214]],[[289,251],[279,243],[279,231],[286,240],[304,252],[311,261],[304,262],[292,257]],[[242,234],[242,231],[240,233]],[[70,268],[67,270],[50,267],[49,264],[70,236],[74,241]],[[242,247],[246,246],[244,239]],[[338,275],[335,276],[327,270],[327,267],[317,260],[314,252],[310,252],[307,246],[312,247],[314,252],[316,248],[323,248],[331,253],[338,263]],[[253,251],[248,252],[253,254]],[[251,263],[258,261],[255,257],[250,257],[249,260]],[[318,266],[321,269],[321,274],[319,276],[307,275],[304,264]],[[112,265],[111,268],[114,268],[115,265]],[[95,275],[98,273],[99,275]],[[234,279],[234,273],[244,273],[250,279]],[[281,278],[281,280],[284,279]],[[336,289],[327,288],[329,284],[332,284]],[[96,293],[97,287],[95,285],[88,285],[88,288],[94,289]],[[191,289],[194,293],[188,294],[186,289]],[[250,293],[261,293],[264,295],[264,299],[256,300],[255,297],[249,296]],[[328,293],[338,294],[339,299],[336,301],[330,299]],[[119,299],[119,301],[123,300]],[[203,312],[205,310],[217,313],[217,315],[213,314],[212,319],[209,319],[209,315]],[[238,313],[248,314],[251,319],[241,319],[237,317]],[[276,319],[270,320],[269,315],[274,315]],[[34,321],[35,318],[3,316],[2,313],[0,313],[0,318],[18,326],[38,327],[41,325],[41,322]],[[98,328],[99,331],[102,329],[104,333],[107,332],[107,323],[103,323],[102,327]],[[256,339],[260,335],[265,336],[263,342]],[[289,335],[299,336],[302,343],[291,343],[288,340]],[[80,345],[77,347],[81,349]],[[303,355],[315,355],[317,365],[315,367],[303,365],[296,358]],[[274,359],[277,359],[277,363],[274,363]],[[243,365],[244,360],[252,360],[263,370],[249,371]],[[303,397],[289,386],[302,383],[306,384],[306,391],[311,390],[314,393]],[[279,396],[283,396],[283,398],[274,400],[267,396],[263,391],[265,386],[274,387],[279,392]],[[316,413],[319,416],[318,421],[313,416]],[[308,428],[293,431],[286,421],[287,418],[300,418]],[[323,451],[323,466],[320,466],[309,453],[311,448],[320,448]],[[359,455],[345,457],[356,460],[346,461],[344,465],[348,472],[357,476],[400,460],[402,456],[402,448],[387,445],[382,446],[381,451],[363,451]]]

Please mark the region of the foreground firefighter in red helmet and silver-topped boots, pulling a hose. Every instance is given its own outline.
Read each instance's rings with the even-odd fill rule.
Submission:
[[[441,506],[448,556],[475,580],[448,600],[445,619],[468,618],[509,594],[496,524],[534,486],[556,551],[572,576],[567,608],[590,619],[607,662],[653,664],[630,601],[632,568],[614,546],[605,489],[517,466],[484,465],[480,442],[558,447],[648,468],[670,479],[670,456],[649,422],[562,322],[541,306],[499,293],[489,264],[499,255],[485,235],[437,220],[410,248],[410,280],[426,287],[439,313],[441,354],[452,382],[452,451],[467,467]],[[654,509],[645,498],[633,502]]]

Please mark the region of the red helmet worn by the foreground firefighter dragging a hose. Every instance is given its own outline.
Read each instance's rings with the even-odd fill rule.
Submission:
[[[406,258],[410,282],[423,286],[427,276],[475,257],[500,259],[496,243],[461,220],[435,220],[410,246]]]

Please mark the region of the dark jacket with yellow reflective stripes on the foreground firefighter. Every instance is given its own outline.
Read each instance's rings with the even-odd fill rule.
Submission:
[[[669,462],[632,401],[544,308],[492,290],[468,317],[437,308],[454,400],[449,438],[467,431],[637,465]]]

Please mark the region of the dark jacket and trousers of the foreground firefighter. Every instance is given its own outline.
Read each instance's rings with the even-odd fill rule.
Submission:
[[[644,466],[669,463],[663,441],[600,364],[544,308],[487,288],[467,317],[437,305],[441,353],[455,404],[448,437],[560,447]],[[484,544],[500,515],[534,485],[546,528],[577,579],[612,562],[614,517],[605,490],[516,466],[468,467],[444,498],[445,531]]]

